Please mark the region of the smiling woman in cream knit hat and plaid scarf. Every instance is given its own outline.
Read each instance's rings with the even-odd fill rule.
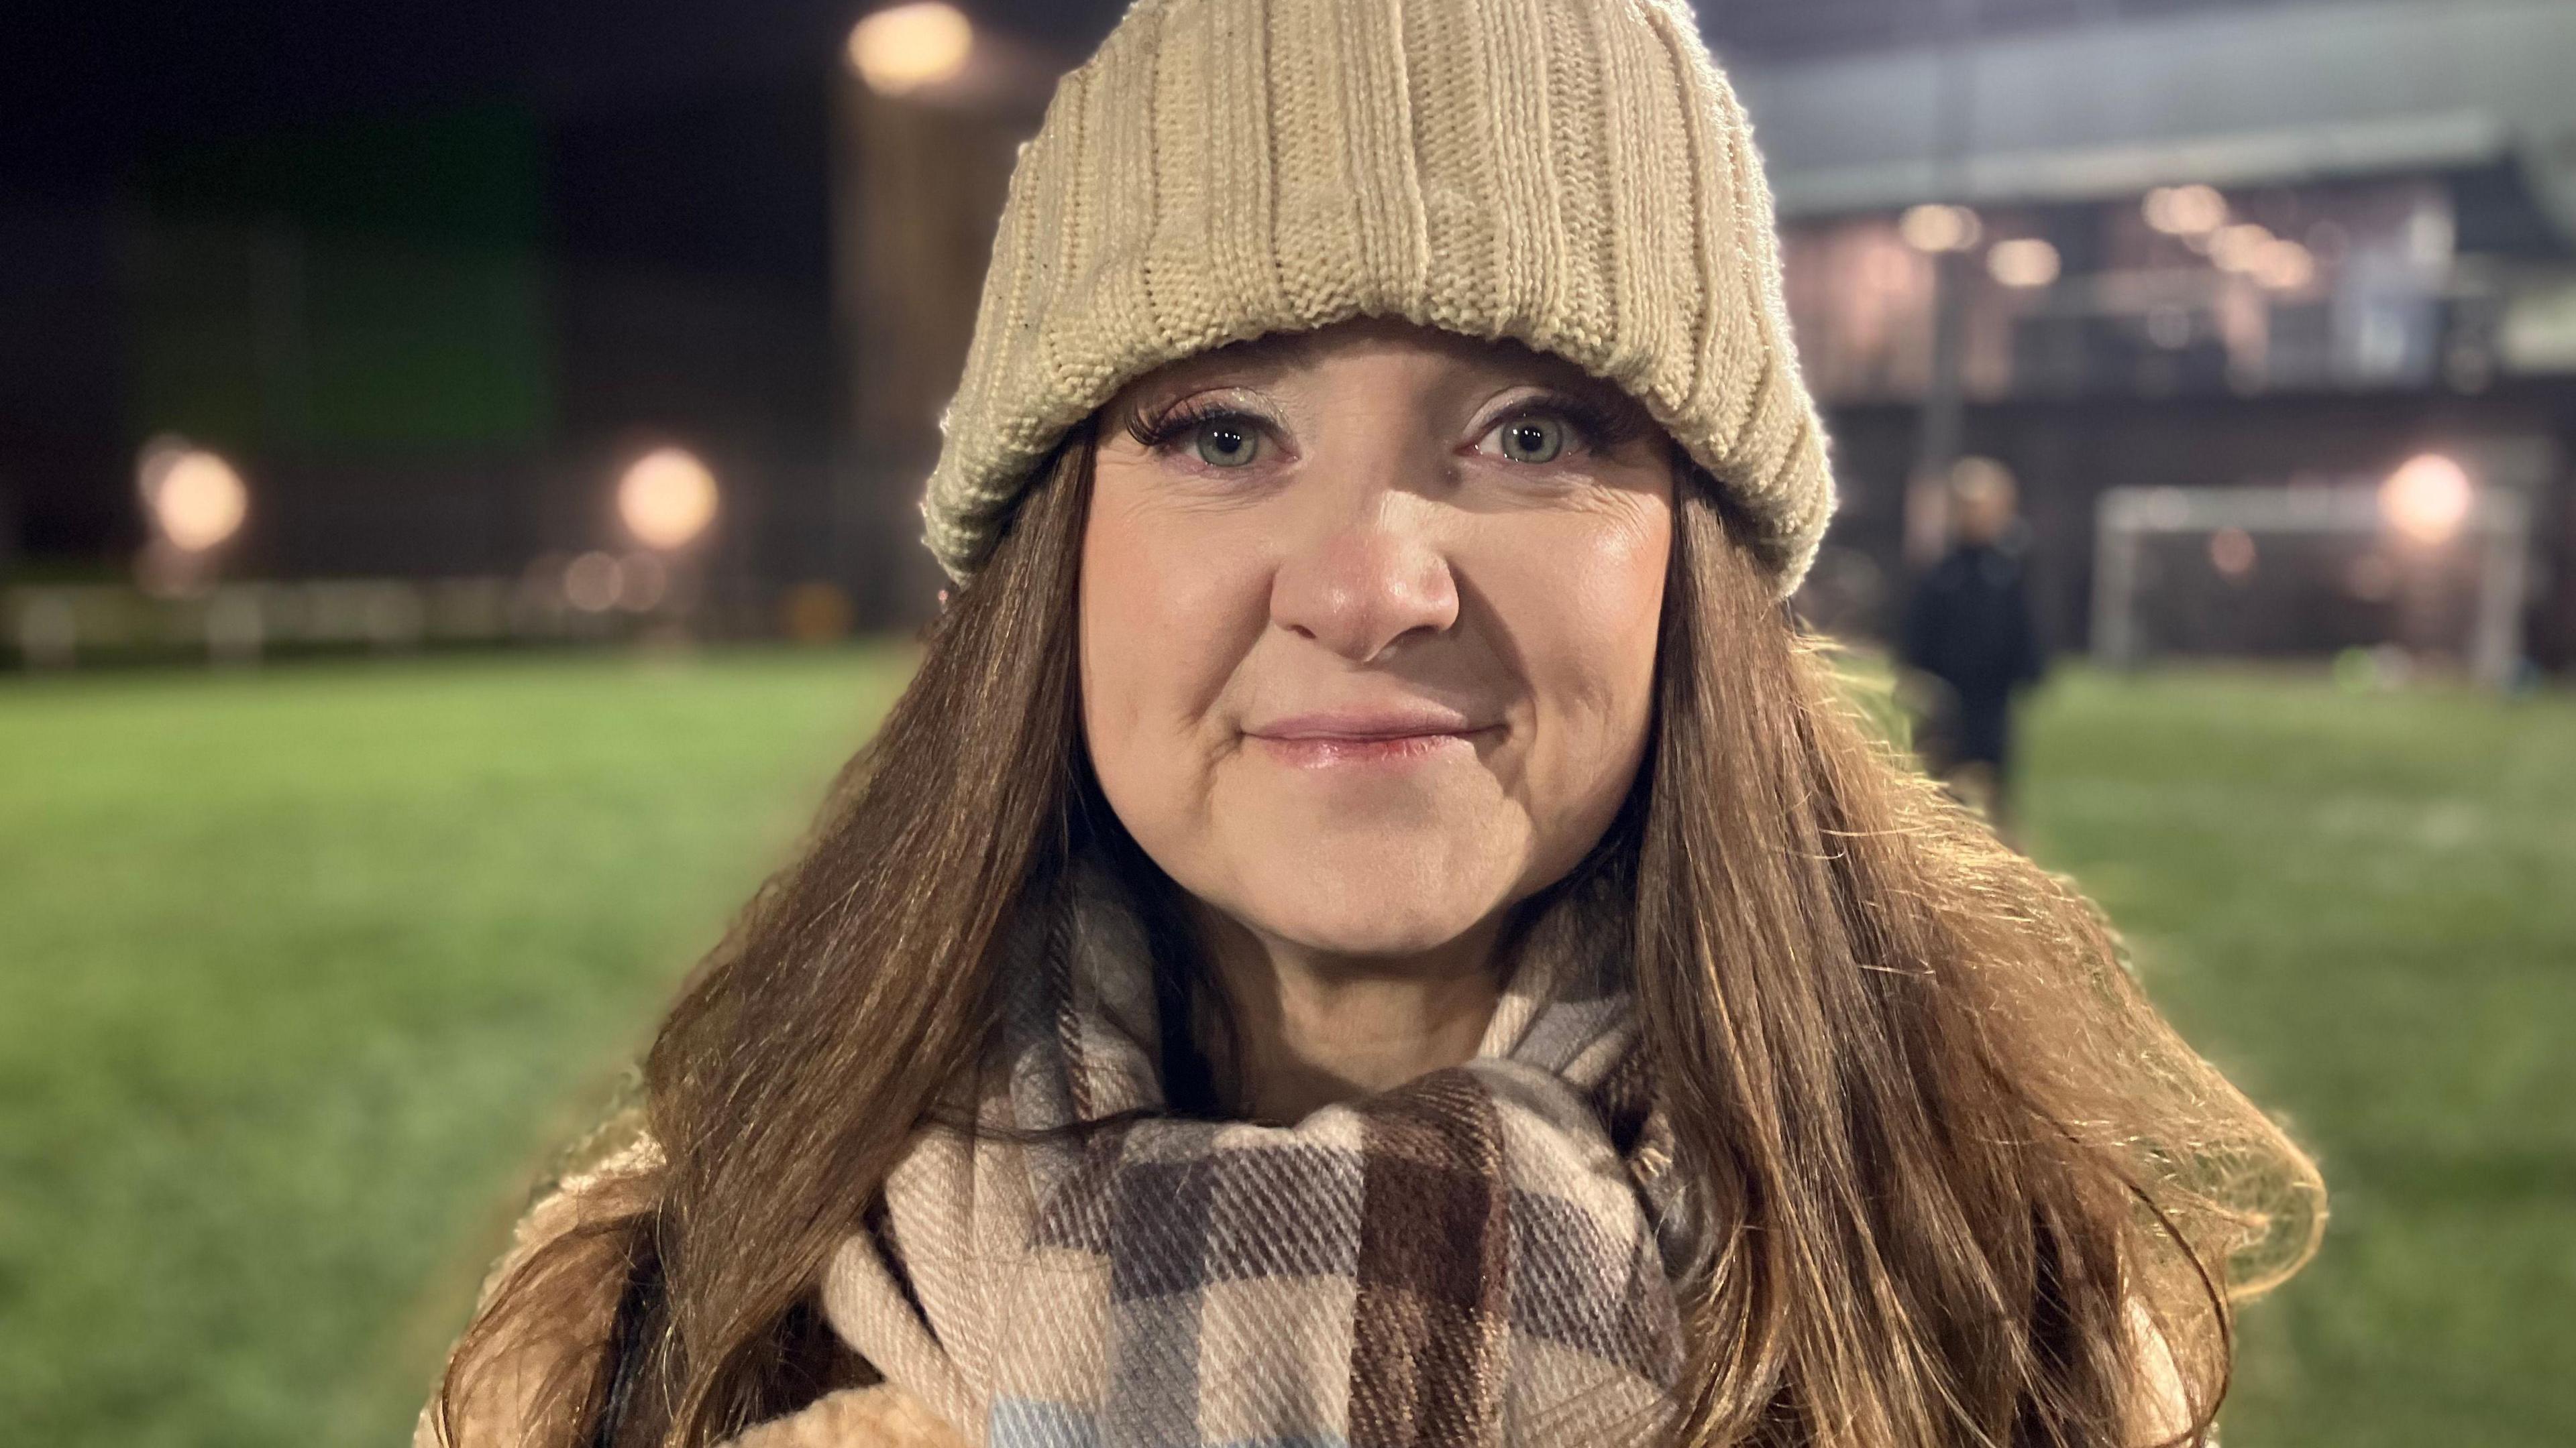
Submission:
[[[1842,703],[1677,0],[1146,0],[958,580],[422,1443],[2205,1438],[2316,1175]]]

